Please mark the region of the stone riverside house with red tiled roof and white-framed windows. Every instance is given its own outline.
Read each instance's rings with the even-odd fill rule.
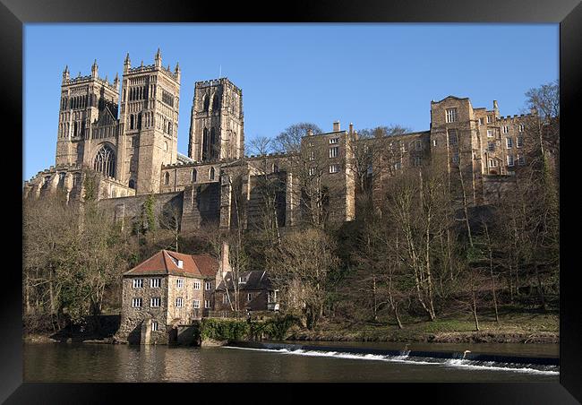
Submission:
[[[130,343],[167,343],[168,333],[212,307],[218,260],[208,254],[161,250],[123,275],[117,336]]]

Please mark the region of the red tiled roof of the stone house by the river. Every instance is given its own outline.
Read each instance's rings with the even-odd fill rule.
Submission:
[[[181,260],[182,268],[174,262]],[[133,269],[124,272],[124,276],[147,274],[172,274],[190,277],[214,277],[218,271],[218,260],[209,254],[179,254],[168,250],[160,250],[149,259],[141,262]]]

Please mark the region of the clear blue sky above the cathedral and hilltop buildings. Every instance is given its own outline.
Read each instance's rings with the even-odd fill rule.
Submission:
[[[355,129],[430,125],[430,102],[449,94],[501,115],[523,112],[524,93],[559,75],[558,24],[26,24],[23,177],[55,164],[64,65],[74,77],[113,81],[132,65],[182,69],[178,151],[188,151],[194,82],[222,76],[243,90],[244,135],[288,125]]]

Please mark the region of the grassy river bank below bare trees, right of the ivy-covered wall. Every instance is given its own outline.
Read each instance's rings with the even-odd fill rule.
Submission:
[[[443,316],[433,322],[407,319],[404,329],[391,322],[322,323],[316,331],[295,330],[287,340],[323,341],[432,341],[441,343],[558,343],[557,313],[514,312],[505,309],[500,323],[491,314],[479,319],[479,331],[470,315]]]

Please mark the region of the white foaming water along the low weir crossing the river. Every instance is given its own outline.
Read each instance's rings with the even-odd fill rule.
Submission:
[[[403,352],[399,356],[382,356],[373,354],[356,354],[356,353],[340,353],[337,351],[319,351],[319,350],[304,350],[304,349],[252,349],[252,348],[238,348],[234,346],[225,346],[227,349],[243,349],[256,350],[270,353],[279,353],[285,355],[295,356],[312,356],[323,358],[349,358],[357,360],[375,360],[375,361],[389,361],[399,362],[415,365],[433,365],[433,366],[449,366],[449,367],[465,367],[474,370],[496,370],[508,371],[517,373],[543,374],[543,375],[559,375],[558,366],[535,366],[535,365],[519,365],[510,363],[496,363],[494,361],[475,361],[460,358],[410,358],[407,352]],[[537,368],[532,368],[537,367]]]

